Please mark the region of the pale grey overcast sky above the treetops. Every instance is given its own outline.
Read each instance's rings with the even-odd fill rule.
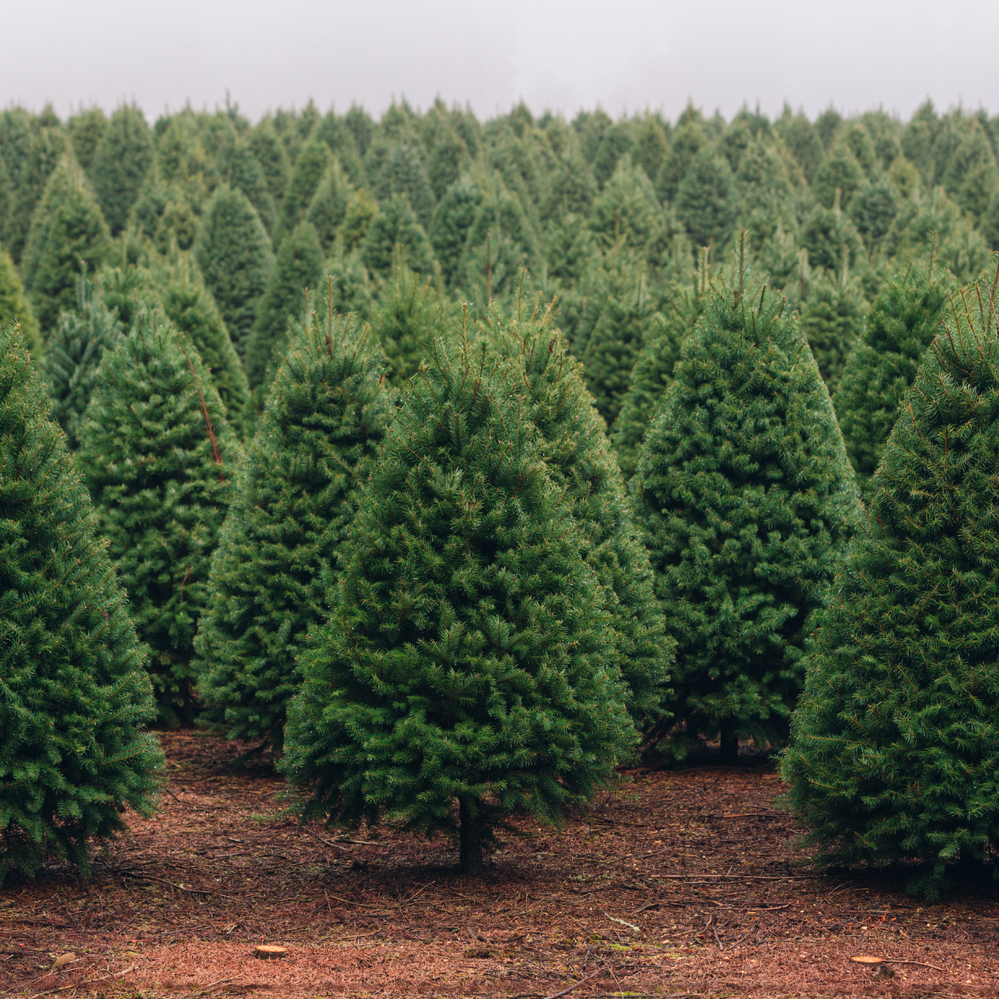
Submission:
[[[0,106],[999,113],[997,0],[0,0]]]

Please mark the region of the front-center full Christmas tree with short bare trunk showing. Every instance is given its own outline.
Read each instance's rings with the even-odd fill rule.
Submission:
[[[466,873],[504,813],[558,822],[635,742],[599,587],[518,381],[441,344],[414,380],[286,731],[305,817],[447,832]]]

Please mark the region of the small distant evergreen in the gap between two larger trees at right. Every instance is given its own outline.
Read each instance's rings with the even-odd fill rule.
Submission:
[[[801,310],[801,331],[830,395],[836,391],[846,359],[863,330],[865,304],[845,262],[839,272],[820,274],[808,289]]]

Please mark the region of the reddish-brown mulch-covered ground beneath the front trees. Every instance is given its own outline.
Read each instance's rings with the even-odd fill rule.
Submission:
[[[999,996],[999,890],[927,905],[904,872],[796,866],[765,761],[628,774],[562,831],[516,819],[472,879],[443,840],[299,827],[241,747],[163,743],[162,813],[90,881],[0,889],[0,996]]]

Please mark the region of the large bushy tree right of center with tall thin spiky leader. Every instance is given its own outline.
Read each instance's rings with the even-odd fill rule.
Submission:
[[[682,756],[699,735],[787,736],[811,614],[860,516],[812,353],[783,299],[719,282],[687,338],[633,483],[677,639]]]

